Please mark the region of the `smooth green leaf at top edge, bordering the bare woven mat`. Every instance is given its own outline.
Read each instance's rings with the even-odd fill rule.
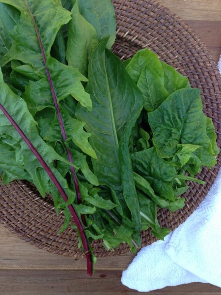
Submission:
[[[115,11],[111,0],[80,0],[81,15],[96,29],[99,41],[110,36],[107,48],[111,48],[116,37]]]

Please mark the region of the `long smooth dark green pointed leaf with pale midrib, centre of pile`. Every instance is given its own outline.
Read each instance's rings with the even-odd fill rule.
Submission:
[[[142,110],[143,98],[122,62],[105,50],[106,44],[107,38],[99,44],[89,62],[87,91],[91,95],[92,111],[79,105],[76,116],[86,123],[85,129],[91,133],[89,141],[97,154],[92,163],[99,183],[116,191],[119,198],[123,183],[127,181],[129,186],[134,186],[133,179],[131,183],[128,181],[132,175],[129,137]],[[125,191],[124,197],[135,218],[136,192],[131,190],[129,196]],[[124,202],[121,200],[121,203]],[[138,220],[135,224],[138,226]]]

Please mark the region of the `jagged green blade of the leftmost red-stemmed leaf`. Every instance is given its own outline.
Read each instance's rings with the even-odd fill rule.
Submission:
[[[66,180],[61,177],[54,168],[55,160],[64,161],[67,165],[69,165],[69,163],[59,156],[55,150],[48,146],[39,136],[36,122],[30,115],[25,101],[8,88],[3,81],[1,72],[0,89],[0,104],[3,105],[7,112],[16,120],[28,139],[55,173],[55,176],[60,180],[63,187],[66,188],[68,194],[70,196],[75,194],[75,192],[68,189]],[[46,191],[49,190],[50,178],[28,148],[27,144],[2,112],[0,112],[0,134],[0,166],[2,168],[4,167],[5,170],[7,170],[6,168],[8,167],[8,172],[14,175],[14,179],[15,176],[17,179],[25,176],[26,179],[36,185],[41,195],[45,196]],[[6,151],[6,146],[10,153]],[[5,157],[6,155],[7,157]]]

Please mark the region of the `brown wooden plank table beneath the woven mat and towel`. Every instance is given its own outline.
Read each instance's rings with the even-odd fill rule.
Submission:
[[[217,62],[221,54],[221,0],[158,2],[170,8],[195,30]],[[0,295],[137,294],[120,281],[122,270],[133,257],[133,254],[127,254],[98,259],[96,272],[89,278],[84,259],[40,250],[0,224]],[[221,295],[221,289],[210,284],[192,283],[148,294]]]

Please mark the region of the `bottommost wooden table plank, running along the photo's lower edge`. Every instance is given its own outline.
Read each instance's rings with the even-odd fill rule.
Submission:
[[[117,270],[97,271],[93,277],[86,276],[83,270],[0,270],[0,292],[5,295],[138,294],[122,285],[120,277],[121,271]],[[210,284],[192,283],[142,294],[221,295],[221,289]]]

